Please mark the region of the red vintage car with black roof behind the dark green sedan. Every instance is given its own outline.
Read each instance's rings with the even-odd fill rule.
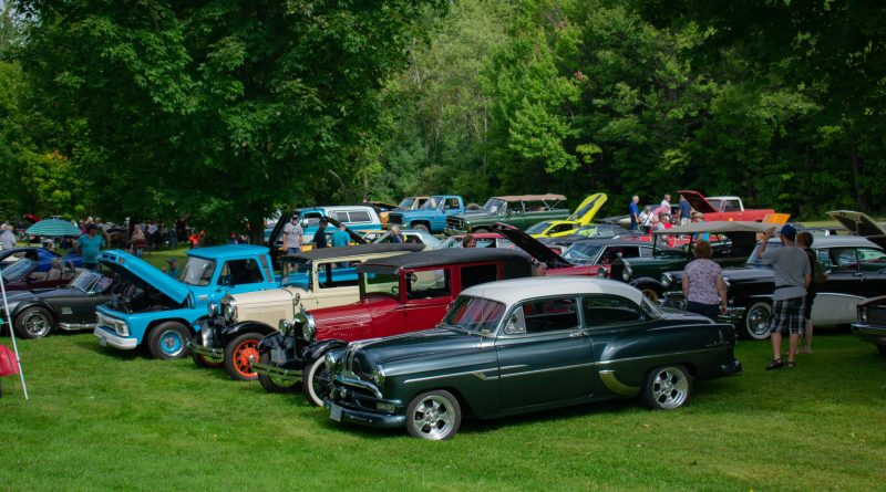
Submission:
[[[259,343],[258,373],[268,391],[291,389],[302,379],[305,395],[322,405],[329,389],[323,356],[348,342],[433,328],[464,289],[532,274],[524,253],[499,248],[447,249],[367,261],[357,266],[360,301],[302,311]],[[296,333],[296,328],[300,332]]]

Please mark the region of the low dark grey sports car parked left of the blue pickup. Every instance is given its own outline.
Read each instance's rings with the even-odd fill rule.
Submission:
[[[95,327],[95,307],[111,299],[114,280],[101,273],[82,271],[59,289],[14,292],[9,295],[10,316],[16,335],[42,338],[53,329],[75,331]]]

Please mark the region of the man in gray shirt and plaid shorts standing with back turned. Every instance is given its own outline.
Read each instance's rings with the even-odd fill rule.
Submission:
[[[782,336],[789,335],[787,367],[794,367],[800,336],[803,334],[805,321],[803,316],[803,299],[806,287],[812,282],[810,259],[802,249],[796,247],[796,229],[790,223],[782,227],[779,238],[783,248],[766,251],[770,238],[775,237],[775,228],[770,228],[763,235],[758,255],[764,264],[771,265],[775,274],[775,292],[772,295],[772,318],[769,323],[770,339],[772,341],[772,362],[766,370],[784,367],[782,360]]]

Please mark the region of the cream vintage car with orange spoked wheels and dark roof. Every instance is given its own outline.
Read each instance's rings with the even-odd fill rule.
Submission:
[[[234,379],[255,380],[258,375],[250,359],[258,358],[258,342],[277,332],[280,320],[291,320],[302,307],[356,303],[360,300],[357,264],[422,249],[424,244],[358,244],[281,257],[285,274],[278,289],[226,295],[209,304],[188,342],[194,363],[224,366]]]

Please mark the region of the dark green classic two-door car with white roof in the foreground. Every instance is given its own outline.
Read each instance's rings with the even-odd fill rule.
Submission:
[[[621,282],[532,278],[464,291],[436,328],[327,355],[330,418],[451,438],[495,418],[617,397],[686,404],[694,378],[741,371],[729,324],[661,311]]]

